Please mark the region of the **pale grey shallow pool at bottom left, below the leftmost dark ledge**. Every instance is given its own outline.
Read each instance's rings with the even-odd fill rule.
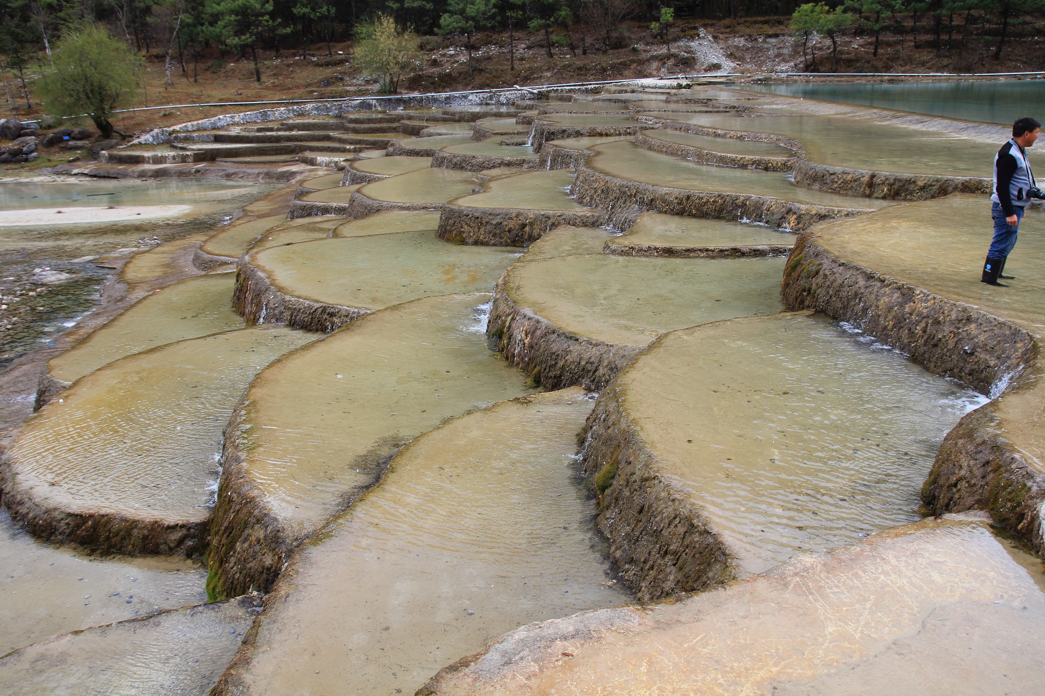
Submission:
[[[6,511],[0,511],[0,655],[59,633],[207,599],[207,572],[196,561],[91,555],[43,544]]]

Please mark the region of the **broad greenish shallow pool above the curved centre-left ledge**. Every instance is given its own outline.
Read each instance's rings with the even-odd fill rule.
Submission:
[[[375,310],[428,295],[489,290],[517,254],[510,247],[449,244],[433,231],[420,231],[278,246],[252,254],[249,263],[293,297]]]

